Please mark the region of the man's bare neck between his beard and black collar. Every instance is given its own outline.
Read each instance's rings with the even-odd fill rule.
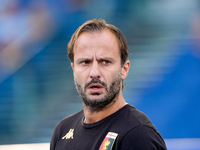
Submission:
[[[120,108],[122,108],[125,105],[126,105],[126,102],[123,99],[122,93],[119,94],[119,97],[117,98],[115,102],[112,102],[101,111],[93,111],[87,106],[85,106],[85,104],[83,104],[85,122],[88,124],[98,122],[110,116],[111,114],[115,113],[116,111],[118,111]]]

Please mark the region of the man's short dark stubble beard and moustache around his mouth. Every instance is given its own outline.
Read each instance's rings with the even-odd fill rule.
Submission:
[[[76,85],[76,89],[80,96],[82,97],[83,103],[87,108],[91,111],[101,111],[104,108],[107,108],[109,104],[115,103],[118,99],[120,87],[121,87],[121,73],[111,81],[110,87],[108,88],[105,82],[100,81],[98,78],[93,78],[89,83],[86,83],[84,89],[81,88],[80,82],[74,76],[74,82]],[[92,84],[98,83],[104,87],[106,94],[100,99],[90,99],[86,95],[86,89]],[[101,93],[92,93],[92,95],[100,95]]]

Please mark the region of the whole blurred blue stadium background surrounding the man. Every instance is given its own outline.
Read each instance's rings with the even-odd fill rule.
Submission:
[[[169,150],[200,150],[199,0],[1,0],[0,149],[48,149],[55,125],[82,109],[67,43],[94,18],[129,42],[125,100],[150,117]]]

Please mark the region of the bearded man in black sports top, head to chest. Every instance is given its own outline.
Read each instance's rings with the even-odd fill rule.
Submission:
[[[83,110],[55,128],[51,150],[166,150],[148,117],[123,99],[128,43],[102,19],[87,21],[68,43]]]

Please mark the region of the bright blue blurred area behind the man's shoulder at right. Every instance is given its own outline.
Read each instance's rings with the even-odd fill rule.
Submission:
[[[181,41],[170,73],[153,88],[146,88],[136,107],[149,114],[165,138],[200,137],[200,55],[193,42]],[[200,52],[200,51],[199,51]]]

